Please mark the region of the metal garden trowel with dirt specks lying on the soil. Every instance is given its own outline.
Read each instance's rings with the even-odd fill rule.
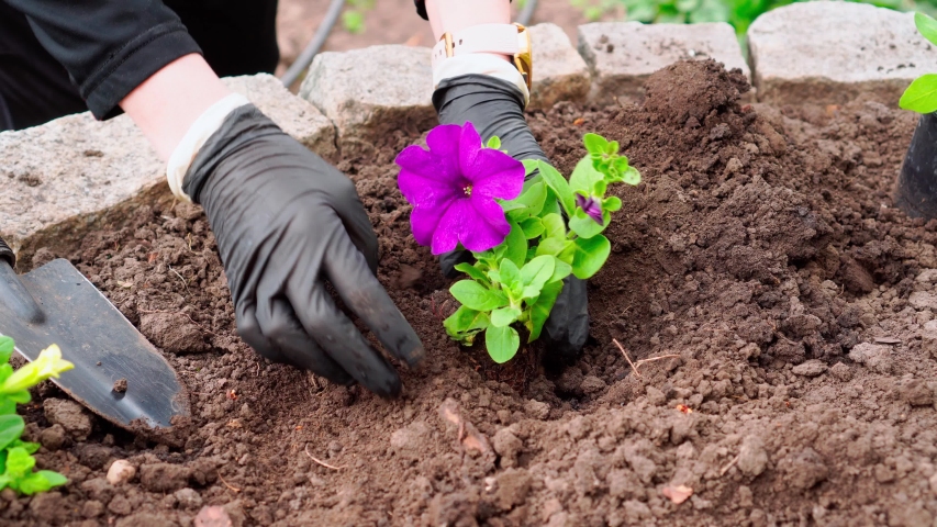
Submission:
[[[0,335],[30,361],[57,344],[75,369],[55,380],[96,414],[124,428],[168,427],[189,416],[176,371],[68,260],[25,274],[0,238]]]

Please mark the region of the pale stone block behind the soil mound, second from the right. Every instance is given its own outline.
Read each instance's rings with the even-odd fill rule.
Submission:
[[[642,24],[596,22],[579,26],[579,54],[592,74],[589,98],[600,103],[637,101],[650,74],[678,60],[713,58],[726,69],[748,65],[726,23]]]

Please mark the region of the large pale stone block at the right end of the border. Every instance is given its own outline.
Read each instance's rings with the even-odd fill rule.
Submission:
[[[860,3],[770,11],[749,27],[748,48],[758,99],[777,104],[843,104],[869,93],[896,106],[914,78],[937,71],[937,49],[912,13]]]

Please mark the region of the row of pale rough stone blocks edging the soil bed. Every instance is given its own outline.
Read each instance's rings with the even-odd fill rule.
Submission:
[[[554,24],[532,26],[531,34],[531,110],[559,101],[639,101],[652,71],[688,58],[741,69],[758,100],[777,104],[841,104],[862,94],[894,106],[912,79],[937,71],[937,48],[917,35],[911,14],[848,2],[766,13],[749,29],[748,61],[722,23],[585,24],[576,47]],[[339,152],[367,155],[397,130],[432,127],[430,79],[427,48],[375,46],[317,56],[302,98],[268,75],[225,82],[306,147],[337,159]],[[141,204],[171,200],[163,170],[126,117],[98,123],[85,113],[0,133],[0,234],[24,262],[42,245],[74,245],[94,226],[124,222]]]

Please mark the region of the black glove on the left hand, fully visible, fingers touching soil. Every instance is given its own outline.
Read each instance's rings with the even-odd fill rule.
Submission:
[[[393,367],[325,285],[391,354],[409,366],[423,359],[375,276],[378,242],[352,180],[245,105],[199,150],[182,189],[205,209],[247,344],[339,384],[400,393]]]

